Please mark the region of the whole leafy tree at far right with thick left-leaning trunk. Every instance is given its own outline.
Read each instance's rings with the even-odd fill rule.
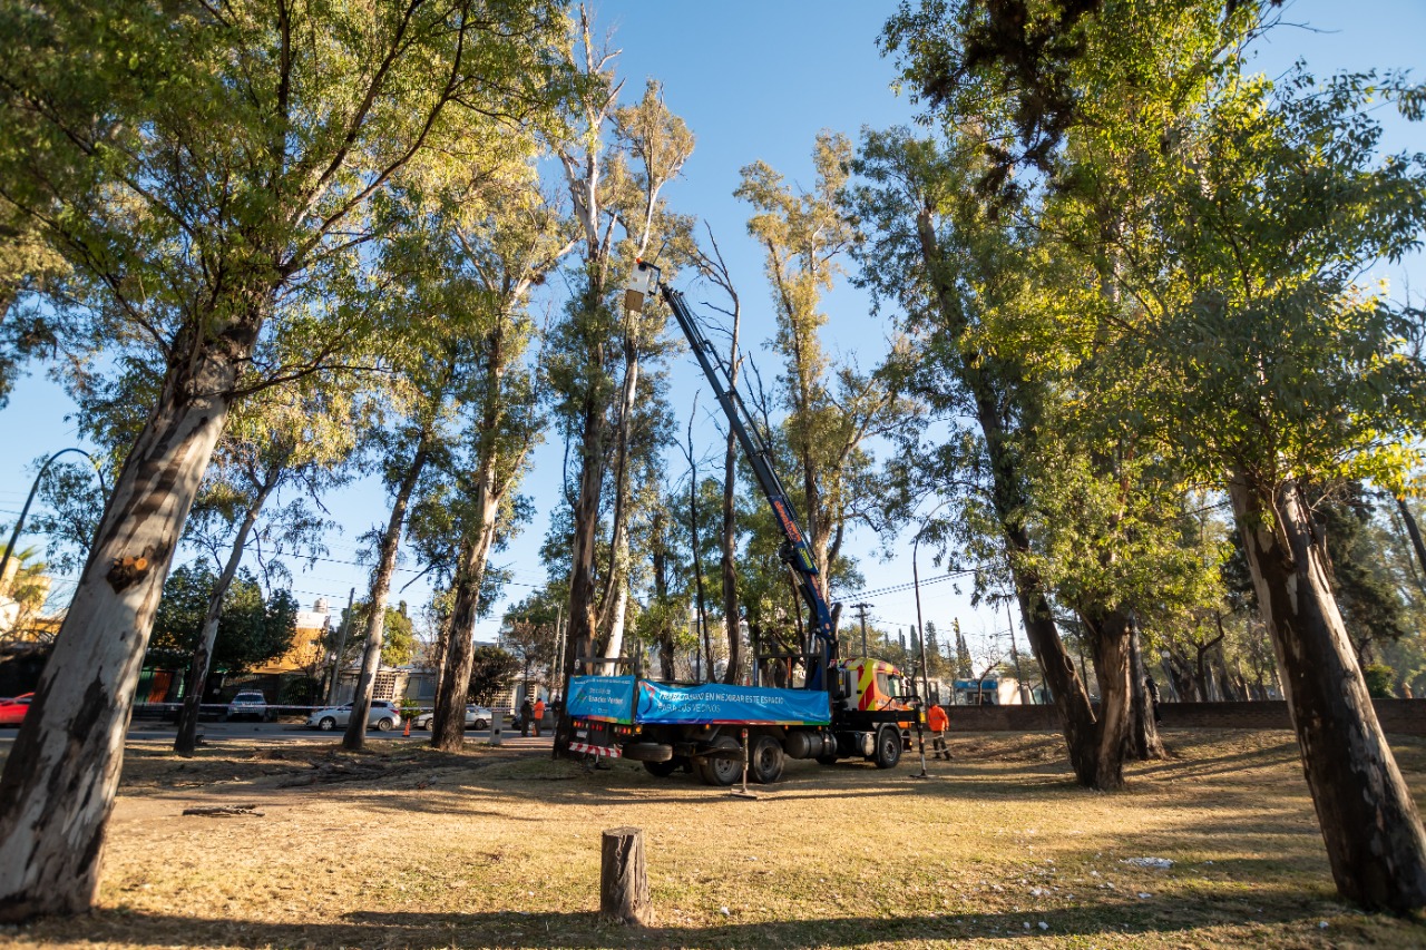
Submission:
[[[1356,284],[1426,223],[1426,163],[1373,154],[1366,101],[1379,94],[1369,77],[1298,74],[1276,91],[1228,77],[1159,194],[1176,280],[1135,274],[1147,332],[1124,345],[1164,382],[1138,394],[1159,438],[1226,474],[1338,889],[1405,910],[1426,904],[1426,834],[1306,495],[1340,476],[1402,486],[1426,405],[1426,364],[1397,345],[1406,315]]]

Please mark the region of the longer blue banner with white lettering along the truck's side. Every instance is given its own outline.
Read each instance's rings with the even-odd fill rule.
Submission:
[[[824,726],[831,722],[827,693],[759,686],[663,686],[639,682],[643,723],[763,723]]]

